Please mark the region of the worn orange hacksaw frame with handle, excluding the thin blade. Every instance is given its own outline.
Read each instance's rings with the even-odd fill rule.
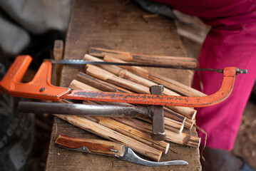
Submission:
[[[185,97],[173,95],[150,95],[135,93],[93,92],[71,90],[51,85],[51,61],[44,61],[29,83],[20,83],[31,62],[31,56],[18,56],[0,82],[0,91],[12,96],[60,101],[63,99],[97,100],[120,103],[137,103],[144,105],[175,105],[187,107],[205,107],[215,105],[225,100],[230,93],[238,73],[246,73],[235,67],[223,70],[223,80],[220,89],[212,95],[204,97]],[[219,71],[219,70],[218,70]]]

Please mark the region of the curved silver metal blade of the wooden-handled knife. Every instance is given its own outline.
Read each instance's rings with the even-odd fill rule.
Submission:
[[[140,165],[145,166],[164,166],[164,165],[188,165],[188,162],[184,160],[173,160],[168,162],[151,162],[148,160],[144,160],[143,158],[138,157],[138,155],[133,152],[129,147],[126,147],[126,152],[123,157],[118,157],[121,160],[125,160],[128,162],[134,162]]]

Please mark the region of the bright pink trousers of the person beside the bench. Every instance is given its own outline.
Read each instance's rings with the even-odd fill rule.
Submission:
[[[157,0],[185,14],[198,16],[212,26],[200,51],[200,68],[235,66],[247,69],[235,80],[227,100],[211,107],[198,108],[197,125],[208,133],[207,146],[232,150],[240,126],[242,112],[256,77],[256,1],[255,0]],[[215,93],[222,74],[203,71],[195,73],[193,87],[203,93]],[[205,135],[198,132],[204,143]]]

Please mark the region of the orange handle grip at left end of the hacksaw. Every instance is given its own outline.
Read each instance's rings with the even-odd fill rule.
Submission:
[[[29,83],[20,83],[26,73],[31,56],[17,56],[6,75],[0,82],[1,92],[22,98],[36,98],[58,101],[59,97],[68,93],[70,88],[51,85],[51,61],[44,61],[36,76]]]

